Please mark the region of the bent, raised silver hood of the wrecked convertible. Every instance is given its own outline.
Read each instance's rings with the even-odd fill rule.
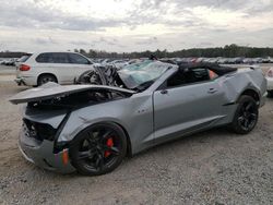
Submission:
[[[121,93],[127,94],[134,94],[135,92],[130,89],[124,89],[120,87],[112,87],[112,86],[106,86],[106,85],[59,85],[56,83],[47,83],[40,87],[27,89],[24,92],[21,92],[13,97],[11,97],[9,100],[12,104],[24,104],[24,102],[31,102],[31,101],[40,101],[46,99],[51,99],[64,95],[75,94],[84,91],[91,91],[91,89],[108,89],[108,91],[117,91]]]

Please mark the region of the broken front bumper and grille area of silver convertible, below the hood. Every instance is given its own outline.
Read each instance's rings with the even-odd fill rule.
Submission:
[[[28,161],[48,170],[63,173],[74,171],[69,161],[68,149],[62,146],[58,148],[56,141],[69,113],[60,111],[60,113],[49,114],[47,116],[48,119],[39,121],[36,119],[38,113],[31,112],[32,108],[26,107],[19,137],[19,148],[23,156]],[[55,123],[52,122],[56,124],[59,122],[59,125],[54,126]]]

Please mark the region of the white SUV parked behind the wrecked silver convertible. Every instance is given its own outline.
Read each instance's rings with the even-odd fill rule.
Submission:
[[[47,82],[72,84],[74,79],[91,70],[93,63],[76,52],[38,52],[16,67],[17,85],[43,85]]]

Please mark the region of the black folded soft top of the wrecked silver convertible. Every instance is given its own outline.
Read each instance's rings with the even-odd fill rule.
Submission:
[[[230,72],[235,72],[238,69],[236,68],[230,68],[230,67],[222,67],[215,63],[192,63],[192,64],[179,64],[179,69],[185,70],[185,69],[195,69],[195,68],[207,68],[215,72],[217,75],[224,75]]]

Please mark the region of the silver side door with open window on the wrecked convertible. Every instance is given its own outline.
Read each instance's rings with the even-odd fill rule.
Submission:
[[[223,118],[224,92],[206,68],[179,70],[154,92],[154,137],[167,141]]]

